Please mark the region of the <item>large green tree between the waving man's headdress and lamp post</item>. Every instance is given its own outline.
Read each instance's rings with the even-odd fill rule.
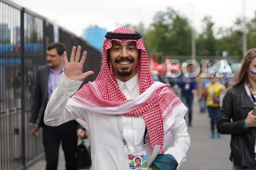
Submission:
[[[144,34],[148,53],[191,55],[191,27],[188,19],[172,8],[155,14],[151,29]]]

